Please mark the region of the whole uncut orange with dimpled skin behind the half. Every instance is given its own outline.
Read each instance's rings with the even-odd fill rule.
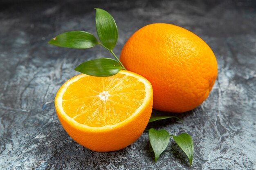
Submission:
[[[153,86],[153,108],[182,113],[208,97],[218,69],[211,48],[194,33],[172,24],[149,24],[126,42],[120,60]]]

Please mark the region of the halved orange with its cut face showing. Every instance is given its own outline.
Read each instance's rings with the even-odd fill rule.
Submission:
[[[66,132],[98,152],[119,150],[136,141],[148,124],[152,104],[150,82],[130,71],[110,77],[77,75],[61,86],[55,98]]]

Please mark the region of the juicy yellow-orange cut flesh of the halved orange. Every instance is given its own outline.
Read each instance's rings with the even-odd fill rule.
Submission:
[[[86,76],[68,86],[62,107],[79,124],[102,127],[130,117],[145,96],[145,85],[135,77],[124,74]]]

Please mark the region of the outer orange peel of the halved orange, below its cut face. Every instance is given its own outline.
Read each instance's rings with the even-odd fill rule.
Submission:
[[[144,108],[144,114],[136,115],[130,122],[124,124],[124,126],[119,126],[115,128],[115,130],[102,130],[101,132],[96,130],[86,131],[76,128],[76,126],[67,123],[67,121],[60,116],[58,110],[56,110],[56,112],[61,125],[74,141],[90,150],[109,152],[125,148],[139,139],[148,124],[152,112],[152,102],[153,100],[150,101],[151,108]]]

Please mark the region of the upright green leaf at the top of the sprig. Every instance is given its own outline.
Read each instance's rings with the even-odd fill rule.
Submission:
[[[96,29],[101,43],[108,49],[112,50],[118,38],[117,24],[114,18],[107,11],[99,8],[96,9]]]

